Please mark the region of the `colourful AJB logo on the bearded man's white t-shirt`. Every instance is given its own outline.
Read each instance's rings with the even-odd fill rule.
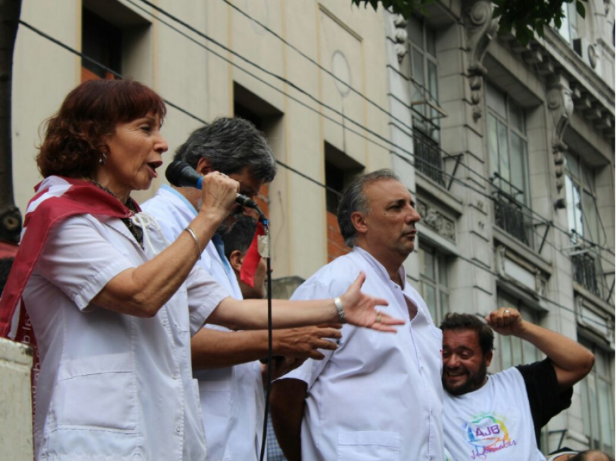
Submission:
[[[491,453],[497,453],[515,447],[505,425],[504,418],[492,414],[476,416],[473,421],[465,424],[468,443],[473,447],[471,460],[487,460]]]

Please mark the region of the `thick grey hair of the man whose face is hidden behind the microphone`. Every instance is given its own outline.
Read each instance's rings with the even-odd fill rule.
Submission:
[[[201,158],[225,175],[240,173],[246,167],[260,181],[272,182],[276,175],[276,160],[264,134],[239,117],[221,117],[195,129],[177,148],[173,160],[196,169]]]

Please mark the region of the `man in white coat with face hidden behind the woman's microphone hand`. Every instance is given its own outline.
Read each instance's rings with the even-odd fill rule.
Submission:
[[[219,171],[240,183],[241,194],[253,198],[276,173],[273,153],[256,127],[239,118],[220,118],[196,129],[180,146],[174,160],[182,160],[199,174]],[[175,240],[194,219],[201,191],[162,186],[143,204],[156,217],[169,241]],[[238,208],[241,213],[242,208]],[[222,235],[236,221],[230,216],[201,255],[198,266],[236,299],[243,299],[238,279],[225,258]],[[275,330],[275,356],[304,360],[322,358],[317,349],[335,349],[324,338],[338,338],[335,328]],[[193,375],[208,443],[208,461],[258,461],[264,419],[261,366],[267,357],[267,331],[231,332],[206,325],[191,342]]]

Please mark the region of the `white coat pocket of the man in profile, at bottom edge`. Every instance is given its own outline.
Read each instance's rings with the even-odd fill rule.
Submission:
[[[338,434],[338,461],[400,461],[400,434],[341,432]]]

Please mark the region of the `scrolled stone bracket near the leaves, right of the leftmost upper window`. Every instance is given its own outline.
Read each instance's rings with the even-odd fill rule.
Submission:
[[[481,107],[484,79],[488,71],[483,66],[483,58],[488,46],[498,30],[498,19],[494,19],[494,6],[489,0],[471,3],[464,14],[467,31],[467,52],[469,53],[469,80],[471,85],[471,102],[473,119],[479,121],[483,116]]]

